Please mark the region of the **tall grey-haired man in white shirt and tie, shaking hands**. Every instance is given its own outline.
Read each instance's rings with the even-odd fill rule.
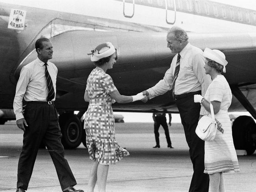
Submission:
[[[173,89],[193,163],[194,173],[189,192],[208,192],[209,176],[204,174],[204,141],[195,133],[199,116],[204,115],[204,109],[201,109],[200,103],[194,103],[194,95],[200,93],[204,96],[211,79],[204,72],[202,50],[188,42],[187,33],[182,28],[174,26],[168,31],[167,47],[172,53],[177,53],[171,67],[162,80],[143,94],[152,99]]]

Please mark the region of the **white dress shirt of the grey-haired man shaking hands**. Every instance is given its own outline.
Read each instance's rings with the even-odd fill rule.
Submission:
[[[202,54],[202,50],[190,43],[180,52],[180,71],[175,81],[175,95],[202,90],[202,96],[204,96],[211,78],[205,74],[205,58]],[[172,89],[177,57],[178,54],[173,57],[171,67],[165,72],[164,78],[147,90],[150,99]],[[204,114],[203,107],[201,107],[200,114]]]

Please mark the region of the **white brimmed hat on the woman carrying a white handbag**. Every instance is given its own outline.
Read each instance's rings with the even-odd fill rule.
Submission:
[[[203,56],[223,65],[223,72],[226,72],[226,65],[228,64],[228,61],[226,61],[226,57],[223,52],[217,49],[211,50],[206,47]]]

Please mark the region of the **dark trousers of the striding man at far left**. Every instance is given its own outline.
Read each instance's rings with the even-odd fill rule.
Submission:
[[[17,188],[28,189],[39,145],[43,141],[50,153],[61,189],[76,185],[76,180],[64,158],[61,130],[54,105],[47,102],[29,102],[24,118],[28,124],[23,135],[23,146],[18,164]]]

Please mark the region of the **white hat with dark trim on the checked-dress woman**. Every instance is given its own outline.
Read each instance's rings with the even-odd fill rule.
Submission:
[[[115,53],[115,47],[111,42],[105,42],[96,46],[94,50],[91,50],[91,61],[99,61],[104,57],[108,57]]]

